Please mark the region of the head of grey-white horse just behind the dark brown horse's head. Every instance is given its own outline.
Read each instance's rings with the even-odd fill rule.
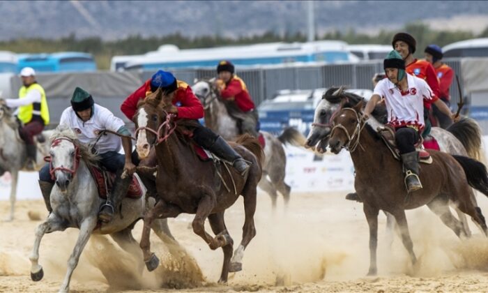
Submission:
[[[314,148],[317,146],[319,153],[326,152],[326,146],[328,144],[330,131],[332,130],[332,119],[340,108],[340,101],[345,100],[344,87],[331,88],[323,93],[317,108],[314,112],[314,122],[310,133],[307,136],[307,142],[305,142],[306,148]]]

